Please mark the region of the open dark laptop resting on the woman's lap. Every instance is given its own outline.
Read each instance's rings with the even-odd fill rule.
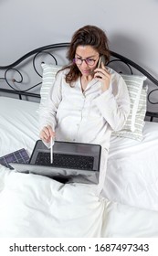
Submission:
[[[28,164],[10,163],[10,165],[17,172],[48,176],[62,183],[98,184],[100,155],[100,144],[55,141],[51,164],[50,149],[38,140]]]

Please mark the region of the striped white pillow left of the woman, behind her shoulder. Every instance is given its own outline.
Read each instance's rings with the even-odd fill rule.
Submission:
[[[59,69],[62,69],[62,66],[53,65],[53,64],[41,64],[43,69],[43,76],[42,76],[42,86],[40,89],[40,104],[39,109],[45,106],[45,101],[47,100],[48,91],[53,86],[56,74]]]

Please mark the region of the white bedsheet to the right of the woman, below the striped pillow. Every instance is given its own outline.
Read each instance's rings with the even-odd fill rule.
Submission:
[[[146,122],[142,143],[111,139],[103,196],[158,211],[158,123]]]

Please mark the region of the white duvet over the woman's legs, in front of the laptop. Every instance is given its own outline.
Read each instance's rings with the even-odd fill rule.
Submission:
[[[97,197],[90,185],[0,167],[0,237],[157,237],[158,214]]]

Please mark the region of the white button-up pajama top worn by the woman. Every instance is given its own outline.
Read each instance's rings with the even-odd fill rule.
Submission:
[[[130,112],[125,81],[113,69],[108,70],[111,84],[107,91],[101,91],[101,83],[95,79],[85,91],[80,78],[70,87],[65,80],[68,69],[60,71],[40,111],[40,129],[49,124],[58,141],[100,144],[108,150],[111,131],[121,130]]]

